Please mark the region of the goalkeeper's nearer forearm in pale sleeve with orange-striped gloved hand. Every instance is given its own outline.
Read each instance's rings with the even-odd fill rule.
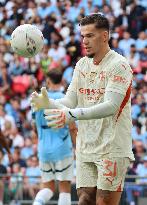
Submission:
[[[47,109],[44,111],[47,125],[53,128],[61,128],[65,124],[76,120],[92,120],[114,115],[120,108],[124,95],[114,92],[106,92],[104,102],[88,107],[69,109]]]

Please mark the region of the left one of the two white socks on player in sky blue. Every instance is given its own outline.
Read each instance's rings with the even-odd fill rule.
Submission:
[[[53,192],[51,189],[44,188],[41,189],[33,202],[33,205],[45,205],[53,196]]]

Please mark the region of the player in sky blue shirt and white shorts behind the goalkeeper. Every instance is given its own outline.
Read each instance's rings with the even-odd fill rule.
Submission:
[[[53,69],[48,72],[46,84],[48,96],[53,99],[63,98],[61,91],[62,72]],[[58,205],[71,205],[71,180],[73,178],[73,142],[76,138],[75,123],[61,129],[47,126],[44,111],[34,113],[38,132],[38,156],[42,177],[42,189],[37,193],[33,205],[46,204],[55,192],[55,180],[59,181]]]

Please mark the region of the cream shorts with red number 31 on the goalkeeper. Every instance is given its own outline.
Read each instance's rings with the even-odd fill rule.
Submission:
[[[129,164],[129,158],[108,158],[96,162],[77,160],[76,187],[97,187],[121,192]]]

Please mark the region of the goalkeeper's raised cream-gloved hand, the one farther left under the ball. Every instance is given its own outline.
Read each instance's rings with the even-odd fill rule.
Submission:
[[[33,111],[38,111],[40,109],[49,108],[50,106],[50,100],[48,97],[48,92],[45,87],[41,88],[41,93],[38,94],[36,91],[32,93],[31,95],[31,107],[33,108]]]

